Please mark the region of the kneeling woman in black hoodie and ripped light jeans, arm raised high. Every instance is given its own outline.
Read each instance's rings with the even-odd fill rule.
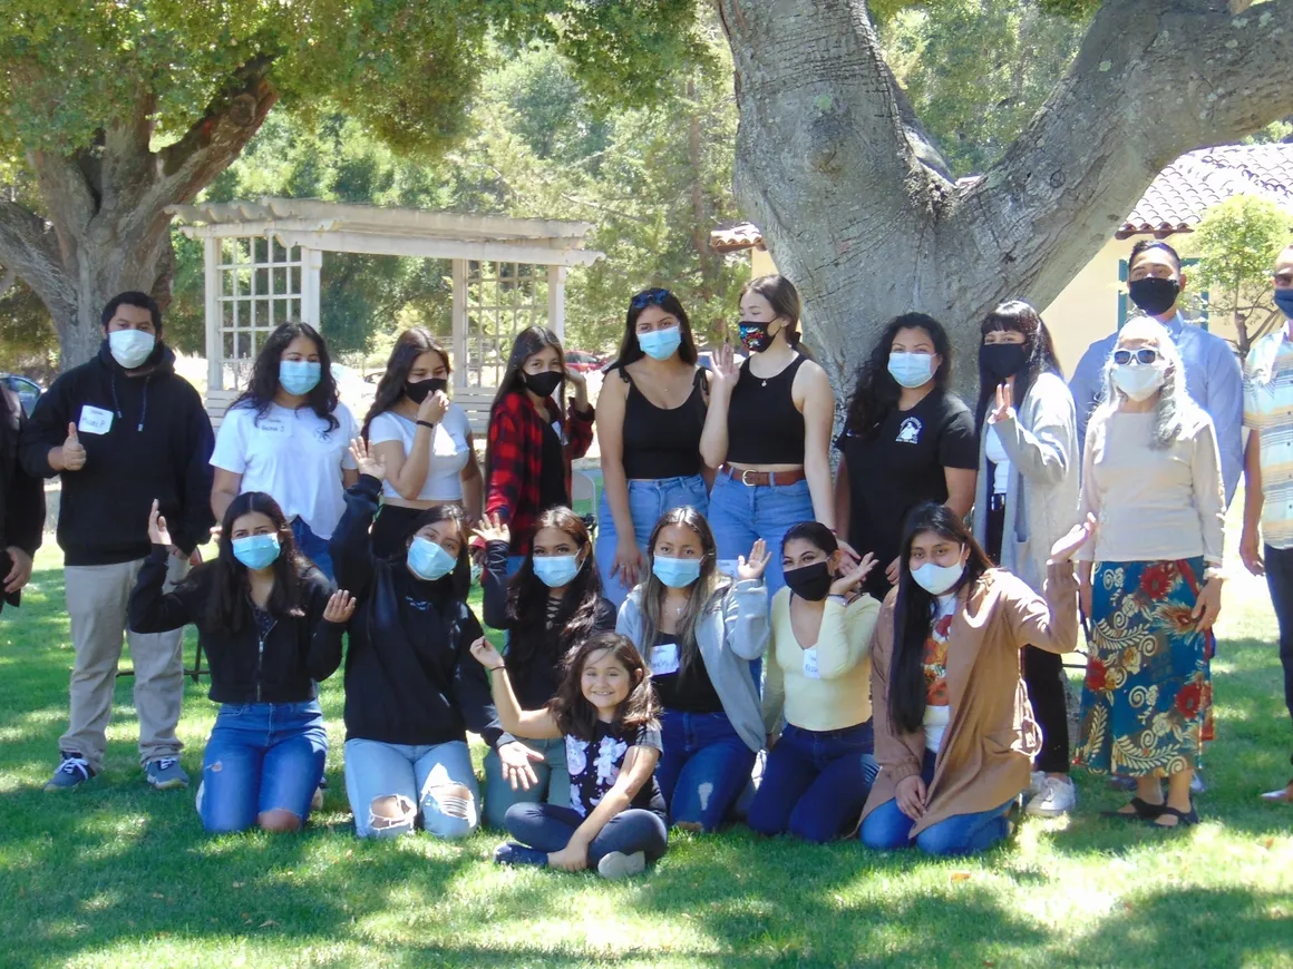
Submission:
[[[359,481],[345,492],[332,563],[359,599],[345,655],[345,792],[359,837],[423,827],[476,829],[480,788],[467,731],[494,718],[484,671],[468,655],[482,634],[467,606],[471,558],[463,510],[433,505],[409,526],[405,552],[379,558],[369,532],[385,465],[350,442]],[[337,642],[334,667],[341,662]]]

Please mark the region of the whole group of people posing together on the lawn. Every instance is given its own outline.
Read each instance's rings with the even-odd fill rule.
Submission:
[[[327,752],[318,682],[343,663],[361,837],[484,822],[512,837],[502,863],[608,877],[662,855],[670,827],[737,817],[970,853],[1009,835],[1021,796],[1034,815],[1071,810],[1071,764],[1134,784],[1116,817],[1192,824],[1241,464],[1241,553],[1270,580],[1293,714],[1293,340],[1254,348],[1245,389],[1228,346],[1182,320],[1184,286],[1166,243],[1137,243],[1146,315],[1071,385],[1037,311],[1002,304],[981,323],[974,407],[948,389],[943,326],[893,319],[834,475],[834,393],[782,276],[746,286],[747,358],[724,348],[711,368],[676,296],[634,296],[596,412],[559,339],[521,332],[484,469],[424,329],[400,336],[357,422],[323,337],[283,324],[213,434],[156,305],[123,293],[98,357],[28,425],[6,403],[10,596],[39,544],[17,495],[62,478],[76,659],[47,789],[103,769],[123,628],[147,780],[187,783],[175,731],[193,624],[220,704],[198,791],[211,831],[305,824]],[[1293,319],[1293,247],[1275,286]],[[593,540],[570,482],[595,428]],[[217,556],[199,563],[212,526]],[[467,605],[473,571],[502,650]],[[1071,752],[1060,658],[1080,612]],[[484,791],[468,731],[489,748]],[[1270,797],[1293,801],[1293,784]]]

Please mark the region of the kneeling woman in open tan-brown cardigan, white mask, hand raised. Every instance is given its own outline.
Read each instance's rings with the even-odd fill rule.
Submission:
[[[868,848],[972,854],[1010,833],[1041,745],[1019,654],[1076,649],[1069,559],[1094,528],[1089,518],[1051,548],[1042,598],[993,568],[956,512],[912,509],[871,646],[881,773],[862,813]]]

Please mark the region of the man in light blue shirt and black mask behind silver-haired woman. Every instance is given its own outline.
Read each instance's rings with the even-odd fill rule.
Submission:
[[[1142,239],[1131,247],[1127,260],[1127,295],[1142,313],[1168,328],[1181,350],[1186,368],[1186,390],[1208,412],[1217,428],[1221,450],[1221,475],[1226,482],[1226,504],[1235,496],[1243,465],[1244,379],[1239,358],[1219,336],[1186,322],[1181,313],[1186,274],[1181,256],[1160,239]],[[1117,342],[1117,333],[1096,340],[1082,354],[1068,389],[1077,404],[1077,443],[1086,443],[1086,422],[1099,403],[1104,363]]]

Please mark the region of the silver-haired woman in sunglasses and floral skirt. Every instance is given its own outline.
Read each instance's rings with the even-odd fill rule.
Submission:
[[[1212,419],[1186,393],[1181,354],[1152,319],[1127,323],[1106,363],[1104,403],[1086,433],[1087,512],[1098,528],[1078,553],[1078,578],[1093,633],[1074,760],[1135,779],[1135,797],[1112,817],[1193,824],[1226,500]]]

